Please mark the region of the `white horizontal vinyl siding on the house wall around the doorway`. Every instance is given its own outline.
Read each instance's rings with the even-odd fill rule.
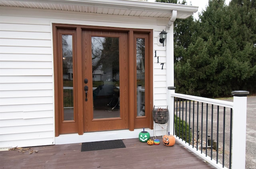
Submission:
[[[167,106],[166,19],[0,7],[0,147],[55,143],[51,23],[154,29],[154,105]],[[162,69],[161,63],[164,63]]]

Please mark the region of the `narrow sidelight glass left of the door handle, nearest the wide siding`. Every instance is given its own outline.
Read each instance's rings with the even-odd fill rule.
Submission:
[[[62,35],[64,120],[74,120],[72,35]]]

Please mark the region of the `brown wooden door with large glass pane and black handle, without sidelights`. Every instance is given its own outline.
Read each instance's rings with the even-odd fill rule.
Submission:
[[[128,129],[128,33],[82,30],[84,132]]]

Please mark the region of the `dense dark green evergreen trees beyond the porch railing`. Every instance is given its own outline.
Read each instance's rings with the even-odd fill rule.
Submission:
[[[191,16],[174,22],[176,92],[210,97],[230,95],[232,90],[255,93],[255,1],[208,4],[198,21]]]

